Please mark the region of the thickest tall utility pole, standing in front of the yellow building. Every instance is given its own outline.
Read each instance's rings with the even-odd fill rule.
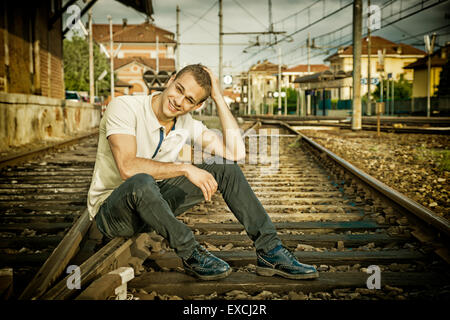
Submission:
[[[361,130],[362,0],[353,2],[353,115],[352,130]]]

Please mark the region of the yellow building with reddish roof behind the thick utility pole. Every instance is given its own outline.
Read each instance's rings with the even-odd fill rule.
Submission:
[[[367,67],[368,67],[368,45],[367,37],[361,39],[361,78],[367,79]],[[395,43],[385,38],[378,36],[371,36],[371,50],[370,50],[370,73],[371,78],[384,78],[386,79],[388,74],[392,75],[392,78],[398,80],[400,74],[404,74],[405,80],[413,80],[413,72],[405,67],[417,59],[423,58],[426,53],[413,46]],[[384,52],[384,63],[380,64],[379,53]],[[347,46],[338,49],[338,51],[331,56],[327,57],[324,61],[330,62],[330,71],[335,73],[338,71],[352,71],[353,70],[353,46]],[[361,94],[367,94],[367,85],[361,86]],[[350,88],[342,88],[343,92],[340,93],[342,99],[351,99]],[[375,86],[371,86],[371,90],[375,90]],[[332,96],[338,96],[337,92]]]

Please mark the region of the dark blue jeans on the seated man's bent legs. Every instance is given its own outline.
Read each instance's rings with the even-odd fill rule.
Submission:
[[[214,176],[223,199],[257,250],[268,252],[281,244],[269,215],[236,163],[214,158],[212,163],[196,166]],[[184,176],[156,181],[149,174],[139,173],[111,193],[95,220],[108,238],[155,230],[178,256],[187,259],[198,243],[192,230],[176,216],[203,200],[201,190]]]

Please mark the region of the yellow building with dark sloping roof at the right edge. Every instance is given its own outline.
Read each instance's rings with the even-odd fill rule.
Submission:
[[[448,63],[450,54],[450,44],[440,48],[431,54],[431,81],[430,81],[430,96],[434,96],[439,85],[440,73],[442,67]],[[405,67],[408,71],[413,71],[413,98],[420,98],[427,96],[428,83],[428,55],[407,65]]]

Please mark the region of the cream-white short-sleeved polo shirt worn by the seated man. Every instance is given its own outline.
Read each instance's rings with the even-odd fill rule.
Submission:
[[[106,198],[124,181],[114,161],[108,136],[133,135],[136,137],[137,157],[175,162],[183,145],[196,141],[207,129],[201,121],[192,119],[187,113],[177,117],[173,130],[166,136],[165,128],[158,122],[151,107],[153,95],[159,93],[155,92],[150,96],[120,96],[113,99],[106,108],[100,121],[97,157],[87,199],[91,220]]]

